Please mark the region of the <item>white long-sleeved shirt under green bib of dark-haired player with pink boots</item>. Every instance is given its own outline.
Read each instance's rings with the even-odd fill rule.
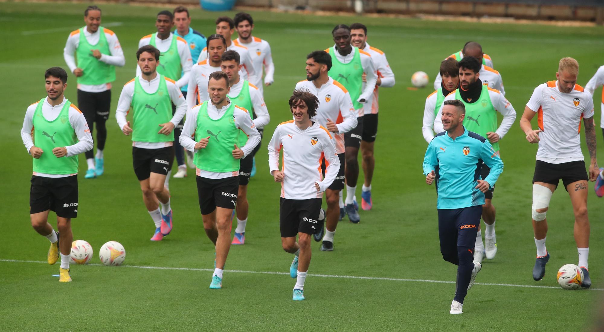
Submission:
[[[175,81],[171,80],[164,76],[165,85],[168,89],[168,94],[170,95],[170,100],[172,103],[176,105],[176,112],[174,113],[171,123],[174,126],[178,126],[181,122],[182,117],[185,116],[187,112],[187,103],[185,103],[185,98],[182,96],[181,88],[176,86]],[[134,86],[135,81],[138,80],[141,83],[141,88],[148,94],[154,94],[157,89],[159,89],[159,74],[155,76],[150,81],[145,80],[143,77],[137,76],[132,78],[128,83],[124,85],[124,88],[121,89],[120,99],[117,101],[117,109],[115,110],[115,120],[117,120],[118,126],[120,126],[120,130],[124,128],[127,124],[126,115],[130,110],[130,104],[132,103],[132,96],[134,95]],[[161,127],[159,127],[159,123],[157,126],[157,131],[159,132]],[[130,134],[132,135],[132,134]],[[135,142],[132,141],[133,147],[140,148],[162,148],[162,147],[171,147],[172,141],[170,142]]]

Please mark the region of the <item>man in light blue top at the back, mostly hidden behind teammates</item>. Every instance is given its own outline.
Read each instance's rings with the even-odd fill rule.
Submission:
[[[206,45],[204,34],[200,33],[197,30],[193,30],[193,28],[190,27],[191,17],[189,16],[187,7],[176,7],[174,9],[173,15],[174,25],[176,26],[176,30],[173,32],[173,34],[187,41],[189,51],[191,52],[191,59],[197,59],[199,57],[199,53],[201,53],[202,47]],[[193,68],[191,68],[191,70],[192,69]],[[184,71],[182,71],[181,75],[184,75]],[[182,95],[185,97],[185,99],[187,98],[187,88],[188,82],[181,88]],[[177,127],[179,128],[175,131],[174,136],[176,138],[174,141],[174,154],[176,155],[176,164],[178,164],[178,171],[176,171],[174,177],[185,177],[187,176],[187,165],[185,165],[184,149],[178,142],[178,134],[179,131],[182,130],[182,126],[181,124],[179,124]]]

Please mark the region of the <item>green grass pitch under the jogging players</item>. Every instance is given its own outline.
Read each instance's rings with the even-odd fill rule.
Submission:
[[[153,225],[132,170],[130,138],[121,134],[114,117],[121,86],[135,75],[138,40],[155,31],[158,8],[101,5],[103,23],[111,24],[117,33],[126,66],[118,68],[112,92],[105,174],[85,180],[85,159],[80,156],[80,205],[79,217],[72,222],[74,239],[92,244],[95,254],[91,263],[99,263],[101,244],[119,241],[127,251],[125,266],[72,266],[74,282],[59,284],[51,276],[58,266],[36,263],[45,261],[48,241],[30,226],[31,157],[19,130],[27,106],[45,97],[45,69],[67,68],[62,56],[65,40],[70,31],[83,26],[85,7],[0,3],[0,330],[574,331],[591,325],[596,316],[594,306],[604,296],[602,200],[590,184],[590,272],[593,287],[599,290],[565,291],[557,287],[556,269],[577,263],[573,209],[561,187],[548,212],[551,264],[543,281],[533,281],[535,244],[530,207],[537,146],[525,141],[518,120],[501,141],[505,168],[493,200],[499,252],[494,260],[484,262],[477,285],[467,295],[464,314],[448,313],[456,269],[440,256],[436,195],[422,176],[426,148],[422,113],[432,89],[406,88],[413,72],[428,72],[433,79],[445,56],[467,40],[476,40],[503,75],[506,97],[519,119],[533,89],[555,79],[561,57],[579,61],[577,83],[585,85],[604,63],[602,27],[252,12],[254,35],[271,43],[276,67],[274,85],[265,88],[271,123],[257,155],[257,176],[249,185],[246,244],[231,248],[224,288],[213,291],[208,285],[214,249],[203,231],[194,172],[189,170],[187,178],[170,181],[175,228],[161,243],[152,243]],[[192,26],[209,35],[220,14],[195,8]],[[227,14],[233,16],[234,12]],[[361,211],[358,225],[340,223],[335,251],[320,252],[319,244],[312,244],[307,299],[295,303],[291,299],[294,280],[286,274],[292,256],[281,249],[278,231],[280,186],[268,173],[266,144],[275,126],[291,119],[287,101],[295,83],[305,78],[306,54],[333,45],[333,26],[355,21],[368,26],[368,42],[387,53],[397,80],[394,88],[381,89],[374,208]],[[66,95],[77,103],[73,75]],[[594,100],[599,123],[600,98]],[[584,136],[582,141],[586,153]],[[602,158],[600,162],[604,164]],[[359,186],[361,181],[362,173]],[[360,198],[360,188],[357,196]],[[53,219],[51,214],[54,225]]]

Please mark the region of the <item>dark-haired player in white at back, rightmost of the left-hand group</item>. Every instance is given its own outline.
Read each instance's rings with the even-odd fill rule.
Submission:
[[[264,93],[264,86],[271,85],[275,79],[275,65],[272,63],[271,45],[266,40],[252,36],[254,30],[254,19],[248,13],[237,13],[235,19],[235,30],[237,30],[237,39],[234,42],[248,48],[248,54],[254,66],[255,81],[251,83],[258,87],[261,93]],[[265,71],[264,85],[262,84],[262,71]]]

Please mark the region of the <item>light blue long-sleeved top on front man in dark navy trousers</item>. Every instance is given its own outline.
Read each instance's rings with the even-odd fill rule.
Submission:
[[[490,167],[489,175],[484,180],[493,187],[503,171],[503,161],[487,139],[469,132],[465,127],[463,135],[455,140],[447,132],[436,135],[426,150],[423,174],[428,176],[432,170],[436,173],[434,182],[439,195],[437,208],[460,209],[483,205],[484,194],[475,188],[478,179],[481,179],[483,162]]]

